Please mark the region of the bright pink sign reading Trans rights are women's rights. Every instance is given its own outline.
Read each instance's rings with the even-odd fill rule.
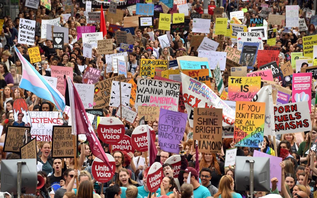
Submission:
[[[312,73],[294,73],[292,85],[292,102],[307,101],[309,112],[312,99]]]

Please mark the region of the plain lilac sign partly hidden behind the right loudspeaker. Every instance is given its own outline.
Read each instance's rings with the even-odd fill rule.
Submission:
[[[278,181],[281,181],[281,174],[282,174],[282,168],[280,166],[280,163],[282,162],[281,157],[275,157],[272,155],[268,155],[266,153],[262,153],[258,150],[254,150],[253,152],[254,157],[268,157],[270,158],[270,179],[273,177],[276,177]],[[270,188],[272,188],[272,183],[270,182]],[[281,191],[281,182],[277,183],[277,189]]]

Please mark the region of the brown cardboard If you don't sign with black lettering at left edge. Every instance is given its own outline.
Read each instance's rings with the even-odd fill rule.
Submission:
[[[3,151],[19,153],[20,147],[31,141],[31,127],[27,126],[7,126]]]

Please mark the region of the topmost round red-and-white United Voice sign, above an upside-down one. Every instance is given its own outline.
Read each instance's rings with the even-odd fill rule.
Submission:
[[[120,119],[103,117],[97,126],[99,139],[106,144],[116,144],[122,140],[125,128]]]

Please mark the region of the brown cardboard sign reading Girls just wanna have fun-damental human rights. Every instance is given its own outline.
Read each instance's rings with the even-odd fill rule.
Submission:
[[[74,138],[71,126],[53,126],[52,158],[74,158]]]

